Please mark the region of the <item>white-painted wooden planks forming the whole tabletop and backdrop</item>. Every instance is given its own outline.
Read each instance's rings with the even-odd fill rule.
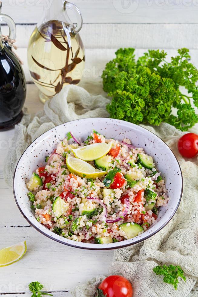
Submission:
[[[147,48],[164,48],[171,56],[175,55],[176,48],[187,47],[193,64],[198,67],[198,1],[71,2],[78,5],[83,14],[81,37],[86,48],[85,67],[90,70],[90,77],[100,75],[120,47],[135,47],[137,56]],[[5,0],[3,12],[11,15],[17,24],[17,53],[24,61],[27,83],[30,83],[26,52],[30,34],[42,16],[41,1]],[[25,107],[32,114],[43,108],[32,84],[28,84]],[[0,269],[0,295],[30,296],[28,284],[39,281],[46,291],[53,291],[55,297],[71,296],[69,290],[75,285],[108,273],[113,252],[67,247],[29,226],[15,204],[12,188],[6,185],[3,177],[3,163],[13,135],[14,130],[0,132],[0,249],[26,240],[28,250],[19,262]]]

